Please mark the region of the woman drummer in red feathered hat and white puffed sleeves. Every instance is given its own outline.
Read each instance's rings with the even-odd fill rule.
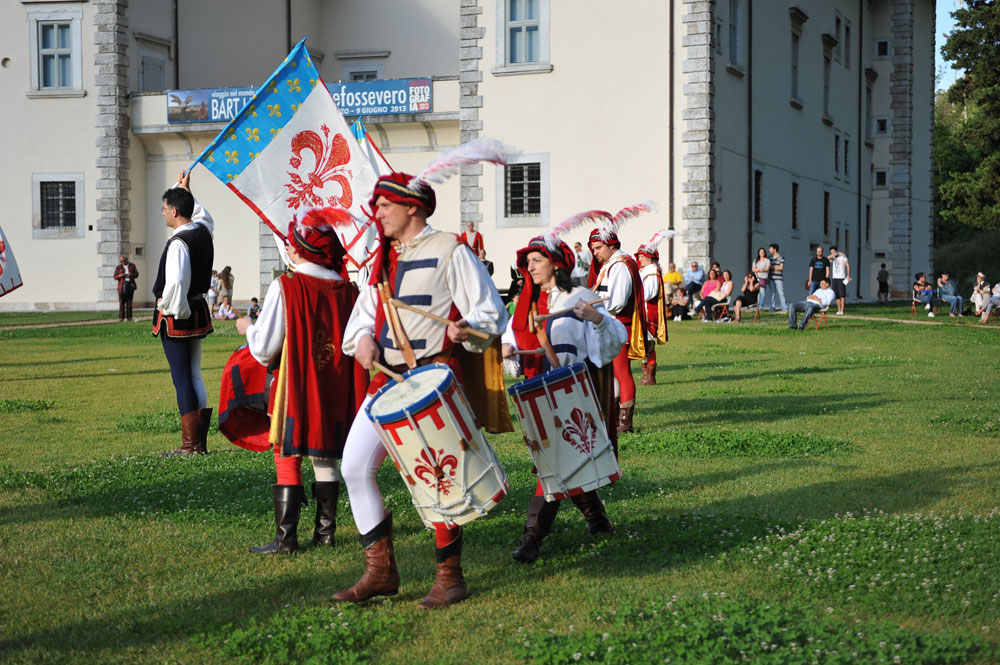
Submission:
[[[609,408],[615,401],[614,381],[611,376],[600,376],[598,368],[610,368],[626,342],[627,333],[625,326],[603,305],[589,304],[598,299],[593,291],[574,286],[570,272],[575,262],[573,251],[552,233],[533,238],[527,247],[518,250],[517,267],[525,279],[517,309],[501,338],[504,369],[512,376],[523,373],[530,379],[553,369],[552,358],[558,361],[558,366],[587,361],[598,395],[606,394],[603,402],[608,403],[601,406],[607,418],[608,433],[614,439],[617,418]],[[569,308],[571,312],[547,319],[536,327],[535,315]],[[540,348],[545,355],[517,353]],[[603,391],[602,386],[605,387]],[[571,498],[587,520],[588,534],[614,531],[597,490]],[[559,501],[545,501],[539,481],[535,496],[528,504],[528,519],[520,547],[514,551],[515,560],[533,563],[538,559],[542,540],[552,527],[559,504]]]

